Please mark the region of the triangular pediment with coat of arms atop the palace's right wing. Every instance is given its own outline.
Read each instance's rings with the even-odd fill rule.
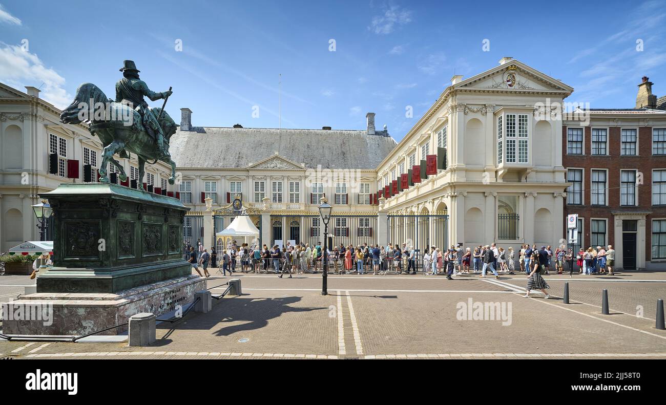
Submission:
[[[572,87],[515,59],[456,83],[454,88],[487,91],[573,92]]]

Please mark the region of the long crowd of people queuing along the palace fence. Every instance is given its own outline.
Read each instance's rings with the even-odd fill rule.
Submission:
[[[222,274],[233,272],[269,272],[273,271],[282,278],[288,274],[317,273],[323,271],[324,248],[319,242],[314,246],[309,243],[299,243],[280,248],[278,245],[269,248],[266,244],[242,243],[238,245],[236,240],[228,242],[225,249],[218,252],[214,246],[204,248],[198,240],[195,246],[187,242],[184,246],[185,258],[192,264],[192,268],[200,276],[209,277],[208,264],[213,268],[220,268]],[[498,247],[495,243],[490,245],[479,245],[474,248],[463,248],[463,244],[440,249],[437,246],[426,246],[422,252],[418,252],[413,246],[406,243],[367,244],[353,246],[333,246],[327,250],[328,270],[335,274],[372,274],[384,275],[387,272],[397,274],[416,274],[417,268],[422,269],[422,274],[446,275],[452,280],[452,276],[462,274],[478,274],[485,278],[486,273],[492,272],[495,278],[500,278],[499,273],[515,274],[524,272],[527,275],[527,294],[530,290],[541,290],[545,297],[545,290],[549,288],[541,274],[549,274],[550,271],[563,274],[565,268],[573,273],[573,250],[565,246],[559,246],[554,251],[551,246],[536,244],[523,244],[515,251],[513,247],[506,250]],[[587,250],[580,248],[575,255],[579,273],[581,274],[613,274],[615,265],[615,250],[609,245],[607,248],[590,246]],[[517,262],[517,264],[516,264]],[[420,264],[420,266],[418,266]],[[202,275],[199,267],[204,270]]]

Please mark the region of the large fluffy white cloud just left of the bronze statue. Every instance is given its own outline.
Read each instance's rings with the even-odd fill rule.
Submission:
[[[37,55],[2,42],[0,81],[21,91],[25,91],[25,86],[38,87],[41,89],[39,97],[59,109],[64,109],[74,99],[64,89],[65,78],[55,70],[45,67]]]

